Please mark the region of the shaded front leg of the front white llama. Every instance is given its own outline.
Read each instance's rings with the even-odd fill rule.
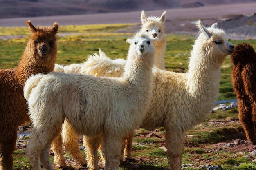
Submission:
[[[109,134],[109,135],[105,134],[105,140],[104,140],[105,169],[104,170],[109,170],[111,166],[112,166],[112,170],[118,170],[123,143],[124,142],[122,137],[113,136],[112,134]]]

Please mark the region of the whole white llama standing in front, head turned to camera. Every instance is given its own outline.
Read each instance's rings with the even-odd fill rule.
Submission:
[[[127,39],[130,49],[122,77],[51,72],[27,80],[24,97],[34,124],[27,156],[34,170],[40,170],[39,158],[46,170],[53,170],[48,149],[64,118],[79,135],[104,132],[105,170],[118,170],[122,137],[141,124],[149,108],[155,62],[150,42],[155,40],[141,33]]]

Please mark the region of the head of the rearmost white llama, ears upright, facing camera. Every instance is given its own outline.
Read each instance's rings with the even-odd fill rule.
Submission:
[[[148,34],[152,38],[159,38],[161,41],[165,38],[164,22],[166,18],[166,11],[161,17],[147,17],[145,11],[141,11],[141,29],[140,32]]]

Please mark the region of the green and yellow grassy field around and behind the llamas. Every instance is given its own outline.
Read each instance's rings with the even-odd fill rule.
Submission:
[[[98,53],[102,49],[110,58],[126,58],[129,44],[125,41],[132,33],[115,33],[131,24],[60,26],[58,37],[57,63],[68,65],[85,62],[88,55]],[[24,38],[0,40],[0,67],[14,68],[25,49],[30,31],[27,27],[0,27],[0,35],[24,35]],[[166,35],[166,69],[169,71],[186,72],[188,59],[195,37],[192,35]],[[256,48],[256,40],[230,40],[234,45],[248,42]],[[227,56],[223,66],[218,100],[234,99],[231,83],[232,63]],[[146,137],[148,134],[150,137]],[[251,145],[234,149],[218,147],[220,143],[233,142],[234,139],[245,139],[242,126],[238,121],[237,108],[211,113],[209,118],[187,132],[182,164],[186,170],[202,169],[200,165],[221,165],[224,170],[256,170],[252,162],[256,157],[245,157],[252,150]],[[23,139],[24,143],[27,139]],[[139,129],[134,138],[133,157],[136,163],[121,163],[120,170],[163,170],[168,168],[164,146],[164,130],[149,132]],[[242,149],[243,148],[243,149]],[[239,150],[240,149],[240,150]],[[84,151],[83,151],[84,152]],[[24,149],[16,150],[14,170],[31,170],[31,164]],[[65,152],[66,161],[77,167],[72,157]],[[50,157],[53,162],[53,157]],[[101,164],[100,164],[101,167]],[[101,167],[103,168],[103,167]]]

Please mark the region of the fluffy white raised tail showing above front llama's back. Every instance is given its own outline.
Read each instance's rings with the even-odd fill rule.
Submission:
[[[121,77],[124,72],[126,60],[115,59],[112,60],[99,49],[99,55],[93,53],[88,56],[86,62],[83,63],[83,73],[90,74],[97,77]]]

